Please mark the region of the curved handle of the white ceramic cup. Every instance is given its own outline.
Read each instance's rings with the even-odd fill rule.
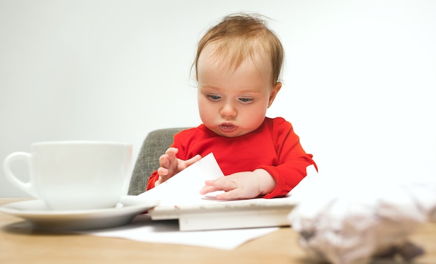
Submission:
[[[3,170],[5,172],[6,179],[8,179],[10,183],[13,183],[13,185],[15,185],[17,188],[20,188],[24,192],[29,193],[29,195],[38,198],[38,194],[36,193],[35,188],[33,188],[31,179],[25,183],[24,181],[18,179],[17,176],[13,174],[12,170],[10,170],[10,164],[16,160],[24,160],[30,169],[30,159],[31,154],[26,152],[14,152],[13,154],[9,154],[3,161]]]

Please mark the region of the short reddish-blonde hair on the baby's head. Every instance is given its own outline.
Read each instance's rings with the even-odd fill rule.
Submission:
[[[247,58],[254,60],[259,53],[266,53],[271,60],[273,84],[279,81],[284,51],[277,35],[267,27],[260,15],[228,15],[203,35],[198,42],[194,64],[197,76],[198,58],[208,44],[215,44],[215,54],[228,58],[231,66],[238,66]],[[254,60],[256,61],[256,60]]]

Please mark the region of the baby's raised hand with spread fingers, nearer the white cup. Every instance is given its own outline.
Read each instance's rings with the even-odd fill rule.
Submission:
[[[159,174],[159,179],[155,182],[155,185],[159,185],[164,181],[170,179],[172,176],[178,174],[185,168],[189,167],[193,163],[196,163],[201,159],[200,155],[196,155],[189,160],[180,160],[176,158],[178,149],[175,147],[170,147],[165,151],[165,154],[159,157],[159,169],[157,169],[157,174]]]

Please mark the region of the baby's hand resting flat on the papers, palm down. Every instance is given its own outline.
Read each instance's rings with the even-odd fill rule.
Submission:
[[[200,194],[224,190],[224,193],[217,195],[217,199],[251,199],[267,195],[276,185],[276,181],[266,170],[258,169],[254,172],[236,172],[216,180],[205,181]]]

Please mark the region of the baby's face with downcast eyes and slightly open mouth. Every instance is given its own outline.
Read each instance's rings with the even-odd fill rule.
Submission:
[[[267,56],[244,60],[234,69],[217,60],[213,46],[198,58],[198,110],[208,129],[228,138],[256,130],[265,119],[281,83],[272,84]]]

